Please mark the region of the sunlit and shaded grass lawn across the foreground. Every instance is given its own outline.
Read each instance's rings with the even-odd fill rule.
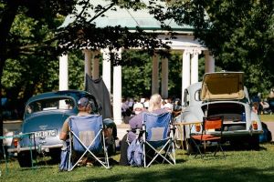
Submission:
[[[219,153],[220,154],[220,153]],[[36,169],[20,168],[16,161],[1,163],[0,181],[264,181],[274,179],[274,145],[261,145],[259,151],[227,151],[227,157],[194,158],[177,150],[175,166],[161,164],[149,168],[112,166],[78,167],[58,172],[58,165],[40,162]],[[119,160],[119,155],[113,157]]]

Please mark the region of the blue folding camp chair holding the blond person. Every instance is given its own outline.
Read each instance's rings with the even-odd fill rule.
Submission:
[[[144,154],[144,167],[159,162],[157,157],[169,164],[175,165],[174,130],[171,113],[161,115],[143,113],[142,116],[142,145]],[[147,160],[151,159],[149,164]]]

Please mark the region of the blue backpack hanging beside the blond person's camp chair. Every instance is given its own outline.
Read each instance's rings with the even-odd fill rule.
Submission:
[[[143,151],[142,151],[142,141],[135,138],[131,145],[128,147],[128,161],[132,167],[142,167],[143,164]]]

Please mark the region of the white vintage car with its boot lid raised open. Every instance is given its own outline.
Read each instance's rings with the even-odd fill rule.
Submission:
[[[224,117],[223,138],[227,143],[235,146],[248,145],[258,149],[258,136],[263,130],[258,115],[250,106],[243,77],[243,72],[208,73],[202,82],[188,86],[184,90],[184,111],[175,118],[175,122],[200,122],[195,126],[184,126],[183,138],[186,140],[188,152],[193,152],[194,147],[189,135],[201,132],[201,129],[196,130],[205,116]]]

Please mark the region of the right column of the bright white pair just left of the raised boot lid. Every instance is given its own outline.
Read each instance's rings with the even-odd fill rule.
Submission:
[[[198,66],[198,56],[201,54],[200,50],[194,50],[191,56],[191,78],[190,84],[195,84],[198,82],[199,78],[199,66]]]

